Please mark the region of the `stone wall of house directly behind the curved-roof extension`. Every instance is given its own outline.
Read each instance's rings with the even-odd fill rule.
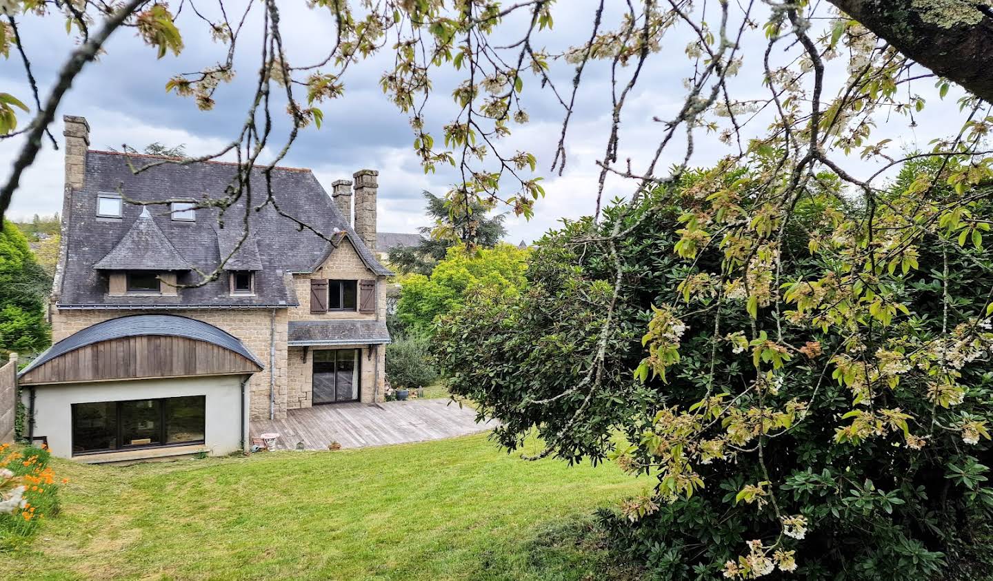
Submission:
[[[52,340],[53,342],[66,339],[73,333],[85,329],[91,325],[124,317],[127,315],[142,314],[142,311],[116,311],[116,310],[54,310],[52,314]],[[276,363],[269,362],[269,346],[271,333],[272,311],[269,309],[244,309],[244,310],[200,310],[200,309],[177,309],[175,311],[155,310],[148,311],[149,314],[169,314],[190,317],[203,321],[214,327],[230,333],[241,340],[241,343],[251,351],[251,353],[265,365],[265,368],[252,375],[249,397],[250,419],[263,419],[269,417],[269,373],[275,374],[275,415],[276,418],[286,417],[288,407],[287,389],[287,357],[286,357],[286,333],[287,333],[287,312],[286,309],[275,311],[275,344]]]

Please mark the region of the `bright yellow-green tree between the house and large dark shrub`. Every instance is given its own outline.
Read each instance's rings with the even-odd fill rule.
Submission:
[[[430,276],[403,278],[396,317],[410,332],[430,334],[435,318],[461,305],[467,293],[490,288],[515,296],[524,282],[527,254],[504,243],[473,253],[449,248]]]

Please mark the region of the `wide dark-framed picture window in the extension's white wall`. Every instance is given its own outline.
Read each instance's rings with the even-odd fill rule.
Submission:
[[[72,404],[72,454],[204,441],[207,397]]]

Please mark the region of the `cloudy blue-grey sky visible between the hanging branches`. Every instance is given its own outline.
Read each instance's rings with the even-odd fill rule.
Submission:
[[[246,0],[229,1],[228,8],[233,10],[232,6],[242,5],[243,1]],[[210,0],[197,2],[198,8],[206,12],[211,4]],[[304,2],[281,4],[283,37],[290,64],[299,66],[322,60],[322,51],[330,46],[330,35],[334,30],[330,15],[310,10]],[[555,12],[553,31],[542,34],[533,42],[549,52],[581,44],[590,34],[593,4],[592,0],[560,3],[562,8]],[[192,99],[167,93],[164,88],[174,74],[200,70],[224,56],[223,47],[210,40],[202,24],[191,18],[187,10],[179,21],[186,44],[179,57],[170,54],[156,60],[154,51],[144,46],[132,30],[119,31],[108,43],[106,54],[98,63],[85,69],[72,86],[60,108],[53,133],[61,140],[61,115],[73,114],[88,119],[92,149],[120,149],[126,143],[140,150],[155,141],[167,145],[184,144],[187,152],[193,155],[219,148],[240,127],[252,94],[252,77],[258,69],[259,8],[256,5],[253,9],[254,17],[249,17],[246,32],[240,40],[241,51],[235,61],[237,75],[218,90],[215,95],[217,106],[213,111],[200,111]],[[617,12],[608,14],[605,24],[616,26],[617,17]],[[508,24],[507,28],[512,29],[515,21],[510,20]],[[25,16],[21,20],[21,33],[26,39],[26,48],[44,97],[56,71],[71,51],[73,39],[67,36],[65,21],[59,17]],[[692,63],[684,55],[689,38],[687,31],[677,31],[666,37],[661,52],[649,59],[638,88],[628,98],[620,159],[632,158],[636,171],[638,163],[643,163],[654,150],[662,133],[661,124],[652,119],[670,117],[682,103],[683,78],[692,72]],[[750,61],[757,62],[758,59],[750,57],[760,55],[764,49],[761,29],[746,37],[742,48],[746,67]],[[351,70],[345,79],[346,96],[322,105],[324,126],[320,130],[307,128],[282,165],[311,168],[328,190],[334,180],[351,179],[355,170],[377,169],[379,229],[415,231],[427,223],[421,192],[443,194],[454,183],[456,175],[444,170],[425,175],[420,168],[411,149],[413,136],[407,116],[386,99],[378,86],[380,74],[391,60],[391,56],[384,53]],[[843,67],[841,69],[843,71]],[[566,92],[573,73],[572,66],[553,63],[551,76]],[[621,72],[625,80],[629,73],[630,70]],[[764,88],[758,78],[755,70],[746,69],[740,74],[734,80],[736,90],[740,91],[738,97],[763,94]],[[457,73],[447,70],[434,77],[435,94],[426,109],[426,117],[428,129],[438,141],[441,141],[441,127],[450,122],[456,112],[449,95],[458,79]],[[3,91],[28,102],[30,93],[24,69],[13,51],[9,60],[0,61],[0,82]],[[930,97],[932,82],[925,80],[914,89]],[[538,90],[534,77],[525,77],[525,85],[525,108],[530,122],[515,127],[514,134],[503,146],[505,151],[525,149],[538,156],[536,175],[544,177],[547,197],[538,203],[536,217],[530,221],[508,217],[507,239],[514,242],[539,237],[543,231],[554,227],[559,218],[592,214],[599,176],[596,161],[603,157],[610,118],[610,71],[606,64],[595,64],[584,75],[579,106],[571,122],[566,171],[562,176],[552,175],[548,168],[561,129],[562,107],[550,91]],[[948,101],[954,102],[951,98],[946,99],[946,103]],[[942,111],[951,110],[947,106],[928,109],[933,112],[918,118],[917,127],[911,127],[910,120],[905,117],[886,119],[874,137],[892,137],[904,147],[926,144],[931,137],[949,130]],[[22,117],[22,122],[27,122],[27,118]],[[761,129],[761,126],[756,127],[756,130]],[[954,129],[957,127],[951,130]],[[0,142],[0,168],[3,168],[4,179],[18,146],[16,140]],[[681,160],[683,152],[682,143],[677,139],[670,153],[663,155],[661,167]],[[713,163],[727,153],[731,150],[718,143],[713,135],[701,133],[693,163]],[[859,163],[852,160],[855,167]],[[63,176],[62,152],[55,151],[47,143],[34,167],[22,179],[10,217],[30,218],[34,214],[58,212],[62,205]],[[608,181],[608,198],[626,196],[630,191],[630,184]]]

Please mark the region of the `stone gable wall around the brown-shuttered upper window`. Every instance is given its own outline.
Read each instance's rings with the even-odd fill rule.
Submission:
[[[378,313],[359,313],[355,311],[328,311],[327,313],[310,312],[310,281],[312,278],[330,280],[371,280],[378,278],[376,284],[376,310]],[[290,321],[323,321],[329,319],[385,319],[386,317],[386,283],[385,277],[377,277],[366,268],[365,263],[355,252],[355,246],[347,239],[334,250],[320,268],[312,273],[294,274],[293,283],[300,305],[290,307]]]

